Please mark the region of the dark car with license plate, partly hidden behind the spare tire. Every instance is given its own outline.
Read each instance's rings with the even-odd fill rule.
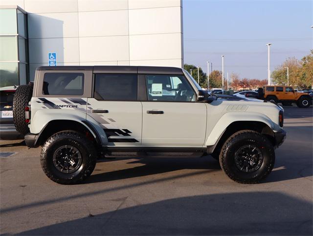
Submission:
[[[13,121],[13,97],[17,86],[0,88],[0,139],[17,139],[23,136],[16,131]]]

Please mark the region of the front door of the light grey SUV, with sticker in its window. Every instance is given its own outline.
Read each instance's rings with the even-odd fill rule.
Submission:
[[[146,75],[148,101],[142,101],[142,145],[202,147],[206,105],[197,102],[184,76]]]

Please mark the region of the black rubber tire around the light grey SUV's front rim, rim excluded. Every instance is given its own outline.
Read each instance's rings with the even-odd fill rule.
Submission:
[[[259,169],[246,173],[239,170],[235,164],[235,152],[244,145],[255,145],[263,155],[263,162]],[[275,162],[275,152],[272,144],[265,136],[252,130],[238,131],[230,136],[224,143],[220,154],[222,170],[232,180],[252,184],[259,183],[272,171]]]

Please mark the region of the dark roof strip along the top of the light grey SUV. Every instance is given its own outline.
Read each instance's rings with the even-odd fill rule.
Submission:
[[[92,70],[93,73],[138,73],[138,74],[176,74],[182,75],[182,69],[165,66],[124,66],[124,65],[95,65],[95,66],[40,66],[37,70]]]

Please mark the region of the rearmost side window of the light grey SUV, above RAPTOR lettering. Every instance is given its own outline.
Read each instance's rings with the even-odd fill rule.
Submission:
[[[83,73],[45,73],[44,95],[75,96],[84,94]]]

